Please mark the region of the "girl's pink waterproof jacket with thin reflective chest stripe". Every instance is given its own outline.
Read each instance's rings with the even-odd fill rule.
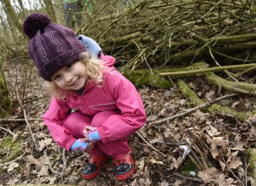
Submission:
[[[43,116],[53,140],[68,151],[76,139],[62,124],[71,113],[71,109],[77,109],[90,116],[100,111],[120,111],[120,115],[111,115],[98,128],[103,143],[130,136],[146,122],[140,95],[133,84],[115,70],[115,58],[102,54],[101,60],[105,61],[107,66],[102,87],[87,81],[81,96],[71,91],[65,100],[53,96],[49,109]]]

